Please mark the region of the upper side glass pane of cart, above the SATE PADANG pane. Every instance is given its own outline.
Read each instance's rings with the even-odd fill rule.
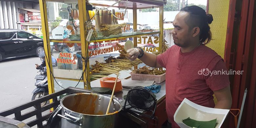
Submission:
[[[77,0],[47,2],[49,34],[54,40],[80,40]],[[56,8],[58,7],[58,8]]]

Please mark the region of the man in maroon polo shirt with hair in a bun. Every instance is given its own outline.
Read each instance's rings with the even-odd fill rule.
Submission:
[[[127,50],[130,60],[138,57],[150,67],[166,68],[166,112],[172,128],[179,128],[173,116],[184,98],[205,107],[231,107],[228,75],[212,74],[227,70],[224,61],[205,46],[211,40],[209,24],[212,21],[212,15],[202,8],[184,7],[173,21],[174,46],[158,56],[139,48]],[[216,105],[213,94],[218,100]]]

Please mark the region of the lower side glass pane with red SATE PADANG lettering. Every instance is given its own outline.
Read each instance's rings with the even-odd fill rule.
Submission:
[[[50,37],[51,38],[51,37]],[[54,89],[75,87],[82,76],[81,43],[50,42],[51,57],[57,66],[53,67]],[[53,59],[52,59],[53,60]],[[83,87],[80,80],[79,87]],[[62,88],[63,87],[63,88]]]

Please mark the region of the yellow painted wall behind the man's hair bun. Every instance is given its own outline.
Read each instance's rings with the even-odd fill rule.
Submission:
[[[207,47],[213,49],[224,58],[227,18],[229,10],[229,0],[209,0],[208,13],[212,14],[213,21],[210,24],[212,39]]]

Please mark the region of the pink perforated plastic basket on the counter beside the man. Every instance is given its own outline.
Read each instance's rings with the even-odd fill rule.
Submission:
[[[162,75],[147,75],[130,73],[132,80],[154,80],[156,83],[161,83],[165,80],[165,73]]]

